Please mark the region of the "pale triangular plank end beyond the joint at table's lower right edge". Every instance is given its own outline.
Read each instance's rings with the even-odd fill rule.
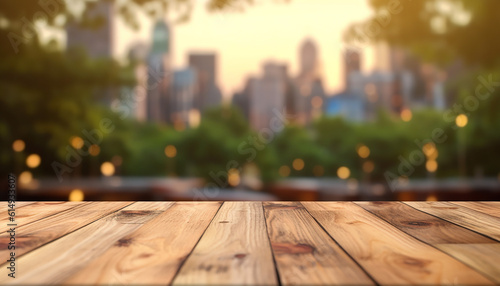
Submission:
[[[500,284],[500,244],[438,244],[439,249],[478,269]]]

